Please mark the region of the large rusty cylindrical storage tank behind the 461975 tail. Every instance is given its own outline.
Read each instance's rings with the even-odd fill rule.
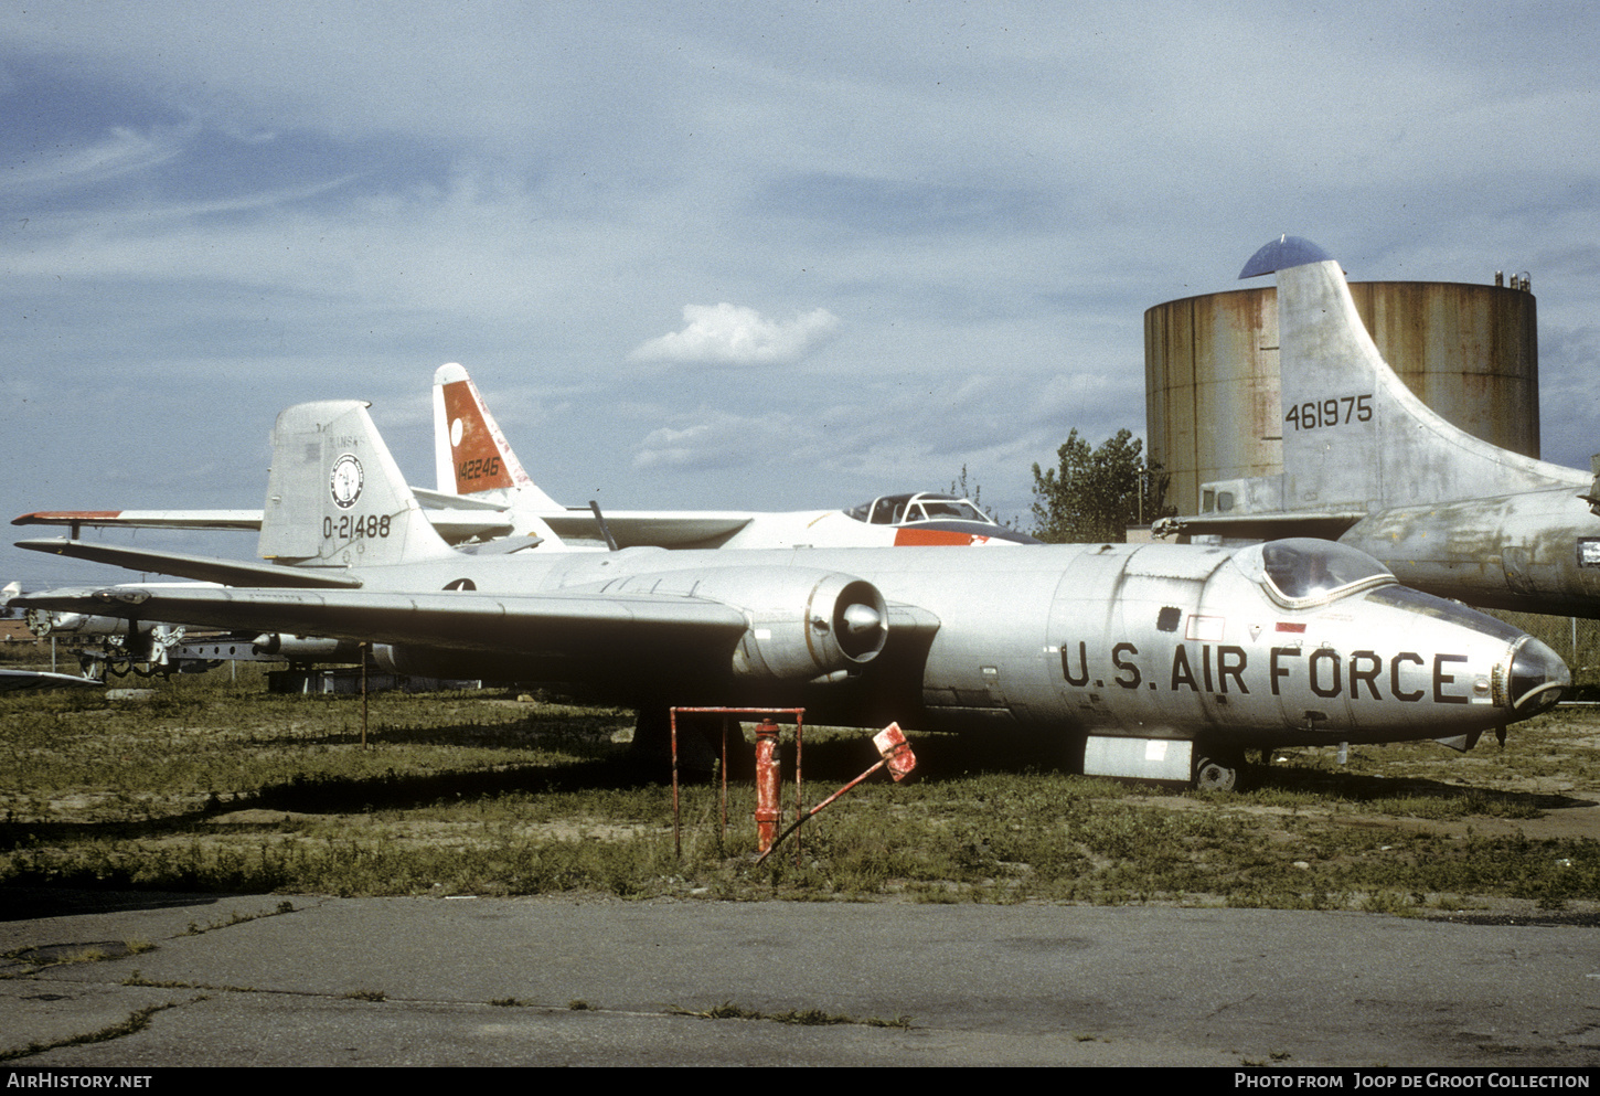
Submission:
[[[1499,280],[1499,275],[1496,275]],[[1400,379],[1438,414],[1539,456],[1539,342],[1528,278],[1510,286],[1352,282],[1355,309]],[[1200,485],[1283,470],[1277,288],[1168,301],[1144,314],[1146,437],[1171,475],[1166,502],[1200,510]]]

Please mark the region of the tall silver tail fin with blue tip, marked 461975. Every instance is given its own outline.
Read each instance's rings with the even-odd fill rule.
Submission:
[[[1378,352],[1333,258],[1280,237],[1240,278],[1277,274],[1286,509],[1378,509],[1584,485],[1589,477],[1446,422]]]

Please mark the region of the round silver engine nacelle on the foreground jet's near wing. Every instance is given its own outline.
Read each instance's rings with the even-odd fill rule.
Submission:
[[[888,640],[888,606],[872,582],[838,571],[714,568],[634,574],[608,592],[682,594],[744,613],[733,653],[744,680],[810,682],[864,666]]]

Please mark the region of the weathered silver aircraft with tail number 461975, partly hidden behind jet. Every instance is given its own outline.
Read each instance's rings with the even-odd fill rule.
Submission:
[[[1229,507],[1157,534],[1338,538],[1419,590],[1486,608],[1600,618],[1600,478],[1451,426],[1384,362],[1344,272],[1298,237],[1277,274],[1283,474],[1205,483]]]

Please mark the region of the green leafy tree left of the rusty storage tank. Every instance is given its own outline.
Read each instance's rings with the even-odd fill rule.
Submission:
[[[1034,536],[1051,544],[1125,541],[1130,525],[1178,510],[1166,506],[1170,477],[1146,464],[1144,442],[1117,430],[1098,450],[1077,430],[1056,450],[1059,469],[1034,466]]]

